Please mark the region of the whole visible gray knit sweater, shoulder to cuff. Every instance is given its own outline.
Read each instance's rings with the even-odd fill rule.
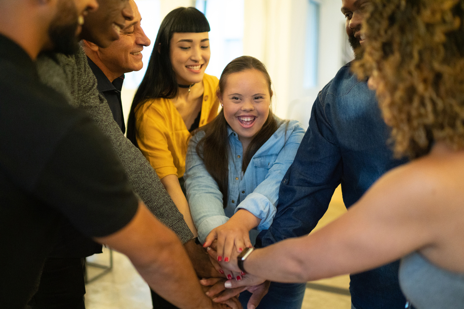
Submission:
[[[179,212],[160,178],[145,157],[124,134],[113,119],[106,99],[97,89],[97,78],[87,63],[84,50],[75,56],[40,55],[37,61],[42,82],[57,90],[74,107],[83,108],[113,145],[135,193],[148,209],[172,229],[182,243],[193,238],[183,215]]]

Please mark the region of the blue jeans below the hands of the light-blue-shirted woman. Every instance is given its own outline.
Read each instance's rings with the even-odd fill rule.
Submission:
[[[304,283],[271,282],[269,292],[256,309],[301,309],[305,290],[306,284]],[[246,308],[250,296],[251,293],[248,291],[240,293],[238,299],[243,308]]]

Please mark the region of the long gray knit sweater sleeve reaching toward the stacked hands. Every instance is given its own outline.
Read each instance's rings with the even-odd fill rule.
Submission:
[[[59,55],[58,60],[64,55]],[[140,196],[148,209],[172,229],[185,243],[193,234],[184,221],[155,170],[142,153],[127,139],[113,119],[106,99],[97,89],[97,79],[87,63],[84,50],[72,56],[75,66],[72,70],[71,95],[72,105],[83,108],[103,134],[111,140],[113,149],[122,163],[129,178],[129,183]]]

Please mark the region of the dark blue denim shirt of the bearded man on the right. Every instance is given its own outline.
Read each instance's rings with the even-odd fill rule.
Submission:
[[[375,93],[351,73],[349,63],[343,66],[313,105],[308,131],[282,180],[274,221],[258,236],[262,245],[311,232],[340,183],[348,208],[385,172],[406,162],[393,159],[389,135]],[[354,307],[404,308],[398,270],[394,262],[351,275]]]

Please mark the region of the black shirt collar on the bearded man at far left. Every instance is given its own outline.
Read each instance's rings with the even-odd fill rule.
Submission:
[[[14,63],[16,70],[21,70],[24,74],[39,79],[36,64],[26,53],[26,50],[2,34],[0,34],[0,59]]]

